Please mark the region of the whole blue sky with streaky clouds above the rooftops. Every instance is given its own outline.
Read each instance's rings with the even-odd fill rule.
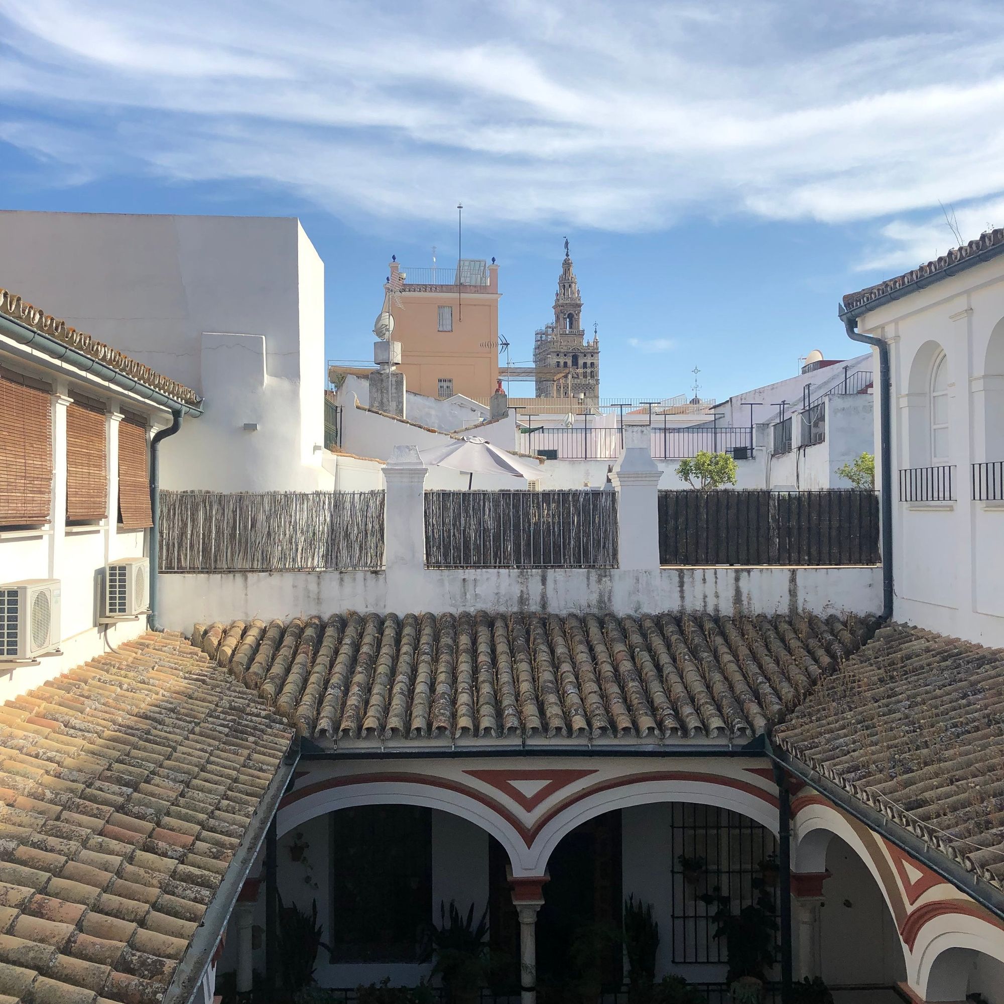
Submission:
[[[725,397],[853,354],[839,296],[942,205],[1004,225],[1002,41],[967,0],[0,0],[0,207],[298,216],[365,360],[461,201],[513,362],[567,235],[602,397]]]

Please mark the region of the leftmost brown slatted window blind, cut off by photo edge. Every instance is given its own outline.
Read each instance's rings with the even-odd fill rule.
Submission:
[[[0,526],[47,523],[52,500],[52,399],[0,370]]]

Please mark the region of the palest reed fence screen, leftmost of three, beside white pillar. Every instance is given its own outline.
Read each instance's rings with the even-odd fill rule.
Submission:
[[[162,571],[384,565],[384,492],[161,492]]]

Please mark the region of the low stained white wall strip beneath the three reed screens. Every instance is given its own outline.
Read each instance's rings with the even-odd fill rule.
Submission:
[[[822,615],[882,609],[882,569],[840,568],[479,568],[358,572],[163,574],[163,619],[196,622],[283,617],[334,610],[653,610]]]

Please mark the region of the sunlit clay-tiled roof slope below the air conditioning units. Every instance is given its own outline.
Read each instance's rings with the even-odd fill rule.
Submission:
[[[161,1001],[288,748],[180,636],[119,651],[0,708],[0,1000]]]

